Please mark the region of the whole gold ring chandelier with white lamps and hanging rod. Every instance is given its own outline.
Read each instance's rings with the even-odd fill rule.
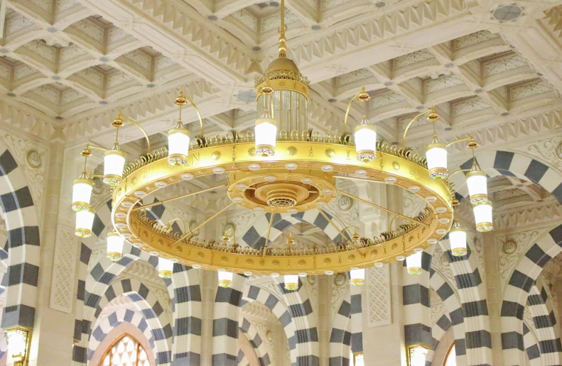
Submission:
[[[468,136],[453,143],[468,142],[472,150],[470,170],[449,174],[447,148],[453,144],[439,142],[435,133],[436,110],[418,114],[404,131],[402,145],[389,145],[377,140],[377,131],[367,117],[347,131],[347,118],[354,101],[367,103],[369,93],[362,88],[347,106],[343,131],[330,135],[308,128],[307,103],[309,82],[298,67],[286,57],[284,1],[281,1],[279,57],[271,62],[256,79],[256,124],[253,132],[227,133],[224,137],[205,137],[200,112],[188,96],[180,92],[175,99],[179,118],[168,132],[168,148],[151,151],[150,140],[136,121],[121,113],[113,121],[117,128],[113,148],[86,145],[82,155],[92,155],[92,149],[104,152],[104,174],[99,175],[112,187],[112,223],[114,231],[107,235],[107,257],[120,260],[124,241],[151,255],[158,256],[158,273],[170,278],[173,263],[195,268],[217,270],[219,285],[229,287],[233,273],[245,275],[284,276],[288,290],[298,288],[298,277],[315,274],[333,275],[350,271],[350,283],[364,283],[364,268],[380,267],[393,260],[406,260],[408,272],[421,273],[423,248],[435,245],[448,234],[453,255],[467,253],[466,229],[454,218],[455,199],[449,178],[465,172],[473,206],[477,231],[492,230],[492,206],[487,196],[486,174],[477,165],[474,149],[477,143]],[[198,113],[200,135],[190,138],[183,126],[181,110],[191,104]],[[420,117],[427,116],[433,124],[433,141],[422,157],[406,147],[406,134]],[[126,155],[119,148],[119,128],[131,123],[144,133],[148,153],[126,164]],[[212,174],[228,174],[227,182],[216,187],[175,196],[171,199],[144,204],[143,199],[172,184],[190,181]],[[88,237],[92,233],[94,210],[90,206],[93,178],[84,171],[75,179],[72,189],[72,209],[76,211],[75,233]],[[384,206],[338,189],[337,182],[352,179],[367,184],[391,184],[405,189],[426,201],[426,207],[415,217],[405,216]],[[183,223],[183,231],[174,231],[172,221],[161,223],[147,216],[152,206],[188,196],[226,188],[229,204],[205,218],[195,228]],[[346,196],[399,218],[403,223],[373,238],[360,237],[357,228],[338,225],[341,221],[327,211],[336,197]],[[228,209],[242,207],[266,215],[269,228],[261,247],[242,247],[235,233],[225,231],[216,240],[203,240],[199,229]],[[315,212],[339,233],[341,243],[326,248],[286,248],[269,246],[271,227],[276,216],[297,216]],[[319,217],[320,217],[319,216]],[[183,221],[181,221],[183,222]],[[344,227],[345,226],[345,227]]]

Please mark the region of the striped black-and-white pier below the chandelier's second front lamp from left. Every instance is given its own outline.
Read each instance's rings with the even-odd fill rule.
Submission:
[[[234,274],[230,287],[217,287],[212,319],[212,365],[235,365],[238,316],[246,277]]]

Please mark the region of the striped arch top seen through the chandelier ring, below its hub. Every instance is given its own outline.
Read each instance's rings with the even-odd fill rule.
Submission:
[[[324,213],[330,218],[330,220],[332,219],[333,216],[329,214],[328,211],[324,210]],[[259,216],[259,218],[256,219],[254,224],[250,226],[246,233],[242,235],[242,238],[240,238],[240,242],[242,245],[246,244],[256,249],[263,248],[266,242],[267,231],[269,228],[269,218],[271,217],[270,215],[271,214],[265,214],[263,216]],[[321,228],[326,233],[326,235],[328,235],[328,238],[330,238],[336,244],[342,241],[342,235],[340,235],[339,231],[337,231],[337,228],[332,226],[332,224],[330,224],[318,210],[303,211],[293,215],[275,215],[274,221],[271,226],[271,232],[269,233],[269,240],[275,240],[286,228],[288,228],[288,226],[303,222],[318,226],[318,228]]]

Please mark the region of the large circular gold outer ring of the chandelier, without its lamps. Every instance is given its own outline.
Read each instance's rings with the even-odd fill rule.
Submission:
[[[175,184],[182,180],[182,174],[190,173],[201,177],[212,173],[212,168],[223,167],[231,173],[229,179],[229,196],[232,187],[245,177],[275,174],[301,174],[285,169],[286,163],[296,163],[298,170],[308,170],[310,177],[324,177],[331,182],[337,174],[354,173],[364,170],[364,179],[372,182],[394,184],[403,189],[410,189],[413,194],[428,201],[428,207],[416,220],[420,224],[407,223],[396,231],[387,233],[385,238],[361,239],[356,243],[358,249],[351,245],[336,245],[335,248],[308,250],[285,250],[266,253],[253,248],[234,248],[232,245],[210,245],[198,240],[178,240],[178,235],[163,230],[155,221],[133,211],[139,202],[135,192],[140,196],[155,192],[157,182]],[[261,165],[257,172],[249,170],[251,164]],[[332,167],[328,170],[326,165]],[[342,272],[352,267],[367,267],[374,262],[390,262],[399,255],[410,255],[415,248],[426,248],[440,240],[453,223],[453,206],[451,205],[452,188],[447,180],[431,179],[423,159],[417,155],[404,154],[401,151],[377,148],[377,157],[372,162],[362,162],[355,157],[355,148],[350,145],[326,143],[322,138],[312,141],[278,141],[276,155],[259,157],[254,153],[254,143],[225,143],[205,148],[190,150],[188,165],[171,166],[166,157],[137,163],[126,169],[128,173],[115,187],[113,197],[112,221],[117,232],[126,240],[147,252],[157,251],[161,257],[177,259],[179,263],[193,265],[197,263],[205,269],[225,269],[231,272],[281,275],[304,272],[309,275],[324,273],[326,270]],[[235,176],[235,178],[234,178]],[[231,184],[232,183],[232,184]],[[328,201],[335,197],[336,191]],[[244,206],[242,202],[242,206]],[[252,207],[248,207],[251,209]],[[308,209],[317,208],[310,204]],[[301,210],[304,211],[304,208]],[[273,212],[273,208],[271,211]],[[283,209],[275,211],[283,213]],[[124,215],[125,214],[125,215]],[[423,224],[422,224],[423,223]],[[175,243],[175,244],[174,244]],[[336,243],[337,244],[337,243]]]

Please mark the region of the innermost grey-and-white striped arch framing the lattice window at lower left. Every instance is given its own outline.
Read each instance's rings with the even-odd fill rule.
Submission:
[[[92,332],[90,344],[88,345],[89,358],[92,357],[94,351],[97,350],[99,344],[102,343],[109,332],[111,332],[114,328],[117,328],[117,326],[121,323],[131,323],[131,325],[139,328],[139,331],[144,334],[148,343],[150,343],[154,353],[158,353],[158,345],[155,342],[153,332],[148,326],[143,314],[131,309],[118,309],[100,321],[98,326]]]

